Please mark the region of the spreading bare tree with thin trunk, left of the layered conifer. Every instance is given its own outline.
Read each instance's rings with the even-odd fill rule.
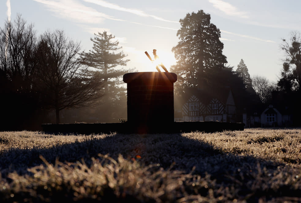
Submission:
[[[89,74],[81,64],[80,43],[69,40],[62,30],[45,32],[36,52],[36,87],[48,107],[56,112],[68,107],[89,106],[102,94],[103,79]]]

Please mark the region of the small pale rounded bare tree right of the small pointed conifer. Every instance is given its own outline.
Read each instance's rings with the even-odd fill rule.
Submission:
[[[252,88],[255,90],[256,94],[259,96],[262,103],[266,103],[273,90],[276,90],[276,83],[270,82],[264,76],[255,75],[252,76]]]

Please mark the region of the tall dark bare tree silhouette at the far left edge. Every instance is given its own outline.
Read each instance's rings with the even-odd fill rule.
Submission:
[[[29,127],[33,118],[39,118],[36,109],[40,103],[32,89],[36,40],[33,24],[27,24],[21,15],[0,28],[0,130]]]

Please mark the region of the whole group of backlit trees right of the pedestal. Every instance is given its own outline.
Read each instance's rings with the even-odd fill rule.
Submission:
[[[236,104],[236,120],[242,122],[242,114],[260,115],[268,105],[283,109],[292,115],[293,125],[300,125],[301,108],[301,38],[292,33],[290,41],[283,39],[283,70],[275,83],[265,77],[250,77],[243,59],[234,67],[226,67],[224,44],[220,41],[220,29],[210,23],[210,14],[199,10],[187,13],[180,19],[177,32],[179,42],[172,48],[177,62],[171,71],[178,76],[175,96],[181,100],[185,93],[196,90],[223,92],[231,88]],[[259,73],[260,74],[260,73]]]

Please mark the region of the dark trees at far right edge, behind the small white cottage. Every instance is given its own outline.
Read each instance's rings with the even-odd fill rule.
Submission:
[[[266,107],[269,104],[292,116],[292,125],[301,125],[301,38],[299,32],[291,32],[290,39],[282,39],[283,68],[279,79],[270,82],[265,77],[252,77],[252,87]]]

